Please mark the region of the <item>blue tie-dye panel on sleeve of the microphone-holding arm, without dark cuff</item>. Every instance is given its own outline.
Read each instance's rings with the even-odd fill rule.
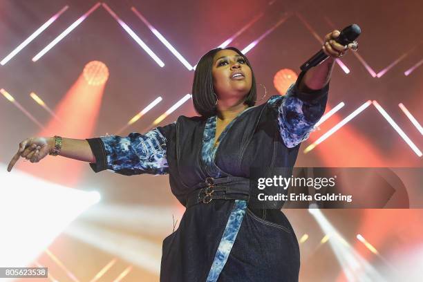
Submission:
[[[304,102],[295,95],[294,84],[288,88],[286,95],[274,95],[267,103],[279,105],[279,132],[288,148],[296,147],[307,140],[310,133],[315,130],[314,124],[323,115],[322,106],[319,103]],[[304,111],[309,111],[310,113],[307,113],[307,116],[314,117],[314,119],[308,120]]]

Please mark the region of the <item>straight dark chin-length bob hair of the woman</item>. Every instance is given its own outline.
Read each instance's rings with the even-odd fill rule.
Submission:
[[[235,47],[227,48],[215,48],[209,50],[200,61],[198,61],[196,71],[194,73],[194,82],[192,84],[192,100],[194,102],[194,108],[197,113],[199,113],[203,118],[209,118],[212,115],[217,114],[216,109],[216,97],[214,96],[214,87],[213,87],[213,77],[212,77],[212,66],[213,66],[213,57],[220,50],[234,50],[239,55],[243,56],[247,66],[250,66],[252,73],[252,86],[250,93],[248,93],[247,98],[245,99],[245,104],[248,106],[254,106],[256,104],[256,78],[254,77],[254,72],[250,61],[247,57],[241,53]]]

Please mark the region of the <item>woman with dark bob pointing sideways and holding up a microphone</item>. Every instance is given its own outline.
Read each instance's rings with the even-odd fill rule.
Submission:
[[[194,73],[199,116],[126,137],[28,138],[8,171],[19,156],[39,162],[50,154],[90,162],[96,173],[169,173],[171,191],[187,209],[164,238],[160,281],[298,281],[294,230],[280,207],[249,205],[250,169],[272,176],[278,167],[294,167],[300,143],[325,111],[335,58],[357,48],[337,44],[338,36],[334,30],[325,37],[326,61],[302,72],[286,95],[260,106],[254,106],[247,57],[232,47],[210,50]]]

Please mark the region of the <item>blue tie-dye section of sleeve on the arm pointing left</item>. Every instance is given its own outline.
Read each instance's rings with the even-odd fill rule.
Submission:
[[[100,138],[106,151],[107,169],[125,176],[169,173],[166,138],[158,129],[144,135],[132,132],[127,137],[107,135]]]

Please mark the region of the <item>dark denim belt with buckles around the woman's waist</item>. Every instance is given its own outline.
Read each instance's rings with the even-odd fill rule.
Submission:
[[[208,204],[212,200],[249,200],[250,179],[228,176],[224,178],[208,177],[193,187],[194,192],[187,197],[186,207]]]

